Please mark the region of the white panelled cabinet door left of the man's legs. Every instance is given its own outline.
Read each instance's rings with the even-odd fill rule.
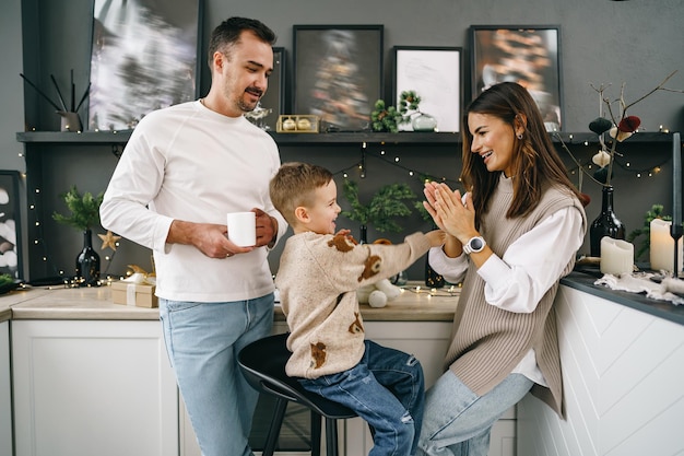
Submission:
[[[13,320],[16,456],[177,456],[158,320]]]

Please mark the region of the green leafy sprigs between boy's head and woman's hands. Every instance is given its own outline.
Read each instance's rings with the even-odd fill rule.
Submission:
[[[363,204],[358,199],[358,184],[350,179],[344,180],[343,194],[352,209],[342,211],[342,215],[362,225],[373,225],[380,233],[401,232],[402,226],[393,218],[410,215],[411,209],[404,201],[416,198],[406,184],[388,184],[373,196],[368,204]]]

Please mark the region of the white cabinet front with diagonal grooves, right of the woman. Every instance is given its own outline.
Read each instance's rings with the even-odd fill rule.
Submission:
[[[684,454],[684,326],[566,285],[554,305],[567,419],[528,395],[518,455]]]

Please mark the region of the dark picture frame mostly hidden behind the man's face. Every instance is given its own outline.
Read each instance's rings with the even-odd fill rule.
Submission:
[[[286,50],[284,47],[273,47],[273,72],[269,77],[269,89],[259,101],[259,107],[266,109],[261,117],[257,109],[252,113],[256,116],[246,114],[245,117],[252,120],[258,127],[267,131],[275,131],[278,117],[285,113],[286,92]]]

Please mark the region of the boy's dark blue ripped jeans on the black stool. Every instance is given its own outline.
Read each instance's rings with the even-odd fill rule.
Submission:
[[[316,379],[302,378],[305,389],[354,410],[374,431],[368,456],[409,456],[416,449],[425,381],[415,356],[365,341],[364,356],[354,367]]]

